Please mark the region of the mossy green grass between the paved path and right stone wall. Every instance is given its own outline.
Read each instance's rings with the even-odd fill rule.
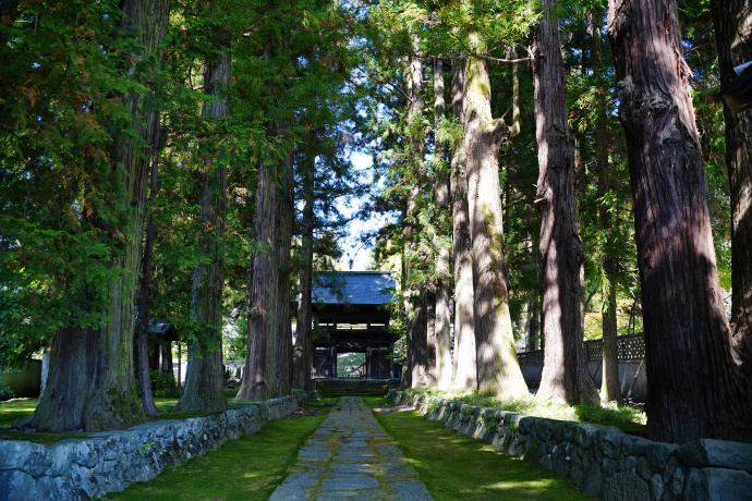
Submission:
[[[371,406],[389,403],[381,398],[364,400]],[[554,472],[500,455],[487,443],[426,420],[415,411],[374,414],[436,500],[591,499]]]

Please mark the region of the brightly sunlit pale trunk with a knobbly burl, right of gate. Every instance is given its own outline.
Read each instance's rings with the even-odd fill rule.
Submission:
[[[470,33],[468,42],[474,52],[485,50],[478,33]],[[502,250],[498,152],[509,132],[504,120],[492,118],[486,60],[476,57],[465,61],[464,117],[477,389],[481,394],[523,395],[527,386],[514,351]]]

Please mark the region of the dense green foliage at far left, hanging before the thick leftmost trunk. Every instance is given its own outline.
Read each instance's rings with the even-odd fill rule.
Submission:
[[[14,340],[11,359],[59,327],[104,325],[121,278],[112,264],[134,237],[109,156],[116,135],[135,137],[122,95],[145,89],[121,71],[136,47],[117,36],[119,17],[110,0],[22,1],[0,27],[0,335]]]

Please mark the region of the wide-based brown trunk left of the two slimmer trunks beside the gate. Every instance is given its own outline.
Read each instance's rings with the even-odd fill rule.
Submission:
[[[256,212],[254,239],[264,244],[266,250],[251,254],[248,267],[248,334],[245,352],[245,370],[235,402],[267,400],[276,389],[270,384],[275,377],[268,367],[276,367],[277,344],[271,335],[277,305],[277,264],[276,247],[279,241],[279,227],[276,224],[279,193],[275,174],[263,161],[259,162],[256,185]],[[271,355],[271,356],[270,356]],[[275,379],[276,381],[276,379]]]

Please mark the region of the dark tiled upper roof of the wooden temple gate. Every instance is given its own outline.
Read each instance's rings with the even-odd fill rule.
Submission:
[[[395,286],[395,278],[388,271],[319,272],[314,274],[313,302],[381,305],[391,302]]]

